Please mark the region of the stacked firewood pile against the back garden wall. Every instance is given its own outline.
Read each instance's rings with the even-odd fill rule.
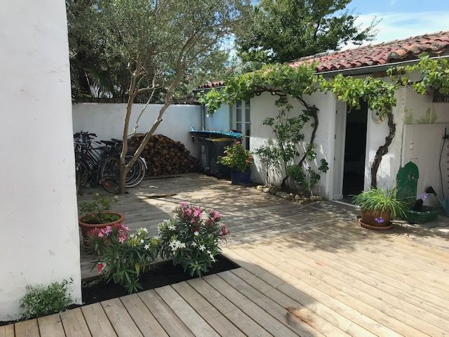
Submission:
[[[134,136],[128,146],[137,148],[144,136]],[[140,156],[147,160],[147,176],[166,176],[198,169],[198,159],[190,155],[184,144],[163,135],[151,136]]]

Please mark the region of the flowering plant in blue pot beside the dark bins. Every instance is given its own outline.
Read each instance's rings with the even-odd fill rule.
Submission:
[[[254,164],[253,154],[245,150],[240,142],[226,147],[225,154],[223,157],[218,157],[218,164],[222,164],[231,169],[232,184],[249,184],[251,167]]]

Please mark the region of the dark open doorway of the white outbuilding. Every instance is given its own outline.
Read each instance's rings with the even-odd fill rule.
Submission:
[[[351,203],[351,195],[363,191],[365,182],[366,129],[368,105],[348,111],[344,143],[343,199]]]

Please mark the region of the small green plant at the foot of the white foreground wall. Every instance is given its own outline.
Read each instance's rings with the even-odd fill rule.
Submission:
[[[69,284],[72,284],[72,279],[53,282],[47,286],[27,286],[27,293],[20,300],[22,319],[51,315],[66,310],[74,302],[67,289]]]

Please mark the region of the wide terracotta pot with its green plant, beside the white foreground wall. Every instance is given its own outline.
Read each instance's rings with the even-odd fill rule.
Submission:
[[[117,202],[119,198],[114,197],[113,200]],[[81,214],[78,223],[83,239],[88,239],[88,232],[94,228],[101,229],[114,223],[123,223],[123,214],[111,212],[111,200],[101,197],[98,193],[93,201],[81,201],[78,208]]]

